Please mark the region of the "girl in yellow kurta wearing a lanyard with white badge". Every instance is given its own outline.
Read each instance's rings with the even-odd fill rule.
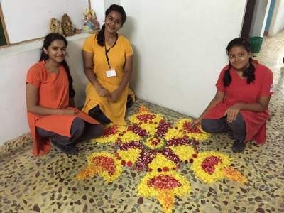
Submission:
[[[84,73],[89,79],[83,111],[102,123],[124,125],[127,98],[134,99],[129,89],[133,50],[129,40],[117,33],[126,21],[122,6],[111,5],[105,15],[101,31],[89,36],[83,46]]]

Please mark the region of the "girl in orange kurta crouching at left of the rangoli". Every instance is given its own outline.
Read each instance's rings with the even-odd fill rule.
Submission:
[[[75,96],[72,77],[65,62],[67,40],[58,33],[45,37],[40,62],[28,70],[26,104],[33,136],[33,154],[43,155],[51,144],[75,154],[76,142],[102,135],[102,124],[71,107]]]

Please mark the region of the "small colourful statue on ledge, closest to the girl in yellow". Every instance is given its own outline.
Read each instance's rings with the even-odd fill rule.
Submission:
[[[94,30],[99,29],[99,21],[97,21],[97,16],[93,9],[85,9],[84,26],[82,29],[87,33],[94,33]]]

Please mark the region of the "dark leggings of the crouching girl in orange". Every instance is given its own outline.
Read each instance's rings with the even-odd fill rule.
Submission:
[[[62,136],[58,133],[47,131],[36,126],[36,131],[42,137],[50,137],[53,141],[58,142],[62,146],[70,145],[85,141],[91,138],[102,136],[102,124],[89,124],[80,118],[75,118],[70,129],[70,137]]]

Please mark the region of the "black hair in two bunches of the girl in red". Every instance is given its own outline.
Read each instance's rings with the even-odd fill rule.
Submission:
[[[249,43],[249,40],[246,38],[234,38],[229,42],[229,44],[226,46],[226,53],[229,55],[229,52],[231,48],[235,46],[241,46],[244,47],[246,52],[251,53],[251,44]],[[225,71],[224,78],[223,78],[223,84],[225,87],[228,87],[229,84],[231,84],[231,63],[229,62],[228,70]],[[253,66],[252,59],[249,58],[249,67],[247,67],[243,72],[243,77],[246,77],[246,83],[250,84],[256,79],[256,76],[254,75],[254,72],[256,71],[256,68]]]

